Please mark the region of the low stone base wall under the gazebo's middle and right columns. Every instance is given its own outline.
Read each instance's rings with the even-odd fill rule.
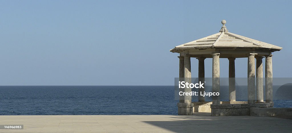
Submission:
[[[273,107],[274,103],[211,104],[211,116],[249,116],[250,108]]]

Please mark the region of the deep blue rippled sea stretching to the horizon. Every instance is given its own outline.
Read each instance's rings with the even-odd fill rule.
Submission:
[[[0,86],[0,91],[0,115],[177,114],[174,86]],[[243,94],[239,100],[247,97],[237,93]],[[224,100],[228,93],[220,95]],[[292,107],[292,100],[274,98],[274,107]]]

